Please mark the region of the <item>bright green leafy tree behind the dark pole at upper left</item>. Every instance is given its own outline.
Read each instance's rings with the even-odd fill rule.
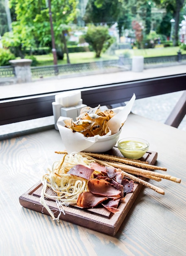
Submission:
[[[63,26],[76,20],[77,4],[78,0],[51,0],[54,37],[59,50],[64,49]],[[27,36],[31,39],[30,45],[33,46],[34,39],[35,45],[49,46],[52,49],[48,0],[10,0],[10,7],[13,20],[17,20],[23,31],[24,27],[27,27]],[[13,33],[13,36],[16,35]],[[20,36],[24,38],[21,29]]]

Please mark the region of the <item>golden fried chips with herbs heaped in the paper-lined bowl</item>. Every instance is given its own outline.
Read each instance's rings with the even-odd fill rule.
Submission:
[[[77,121],[73,119],[64,120],[67,128],[73,132],[81,132],[85,137],[93,137],[95,135],[103,136],[109,132],[107,121],[109,121],[116,113],[113,110],[100,110],[100,105],[96,108],[84,107],[81,109]]]

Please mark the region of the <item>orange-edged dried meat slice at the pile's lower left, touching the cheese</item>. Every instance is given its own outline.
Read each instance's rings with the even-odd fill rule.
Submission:
[[[79,195],[77,205],[83,208],[93,208],[107,200],[105,196],[98,196],[91,192],[83,192]]]

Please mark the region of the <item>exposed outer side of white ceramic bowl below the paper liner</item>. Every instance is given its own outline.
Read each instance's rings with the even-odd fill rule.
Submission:
[[[120,133],[121,129],[116,134],[110,135],[108,137],[100,137],[98,141],[96,141],[92,146],[86,148],[83,151],[92,153],[102,153],[108,151],[116,145],[120,137]]]

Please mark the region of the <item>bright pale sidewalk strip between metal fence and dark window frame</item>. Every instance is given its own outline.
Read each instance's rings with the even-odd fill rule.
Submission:
[[[58,79],[41,79],[40,81],[33,81],[30,83],[0,85],[0,99],[57,92],[75,88],[88,88],[95,85],[135,81],[138,79],[148,79],[155,78],[157,76],[168,76],[183,73],[186,73],[186,65],[149,68],[144,69],[143,72],[122,71],[68,78],[61,78],[61,76],[59,76]]]

